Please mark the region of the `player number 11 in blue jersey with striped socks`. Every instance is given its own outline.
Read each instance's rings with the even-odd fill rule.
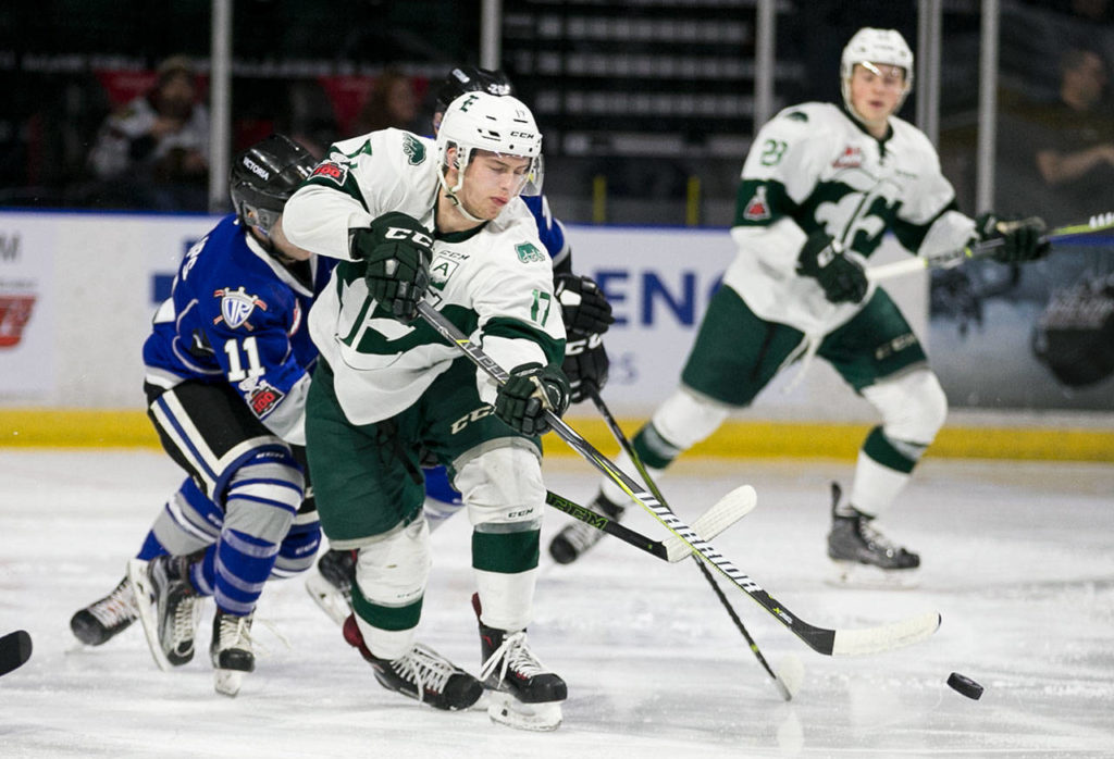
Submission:
[[[193,658],[202,601],[213,597],[209,653],[226,696],[254,669],[264,583],[311,568],[321,539],[304,466],[317,357],[304,322],[335,262],[282,229],[283,206],[315,162],[281,135],[236,157],[235,213],[186,254],[144,344],[148,415],[188,476],[125,581],[70,621],[98,645],[138,614],[156,662],[170,669]]]

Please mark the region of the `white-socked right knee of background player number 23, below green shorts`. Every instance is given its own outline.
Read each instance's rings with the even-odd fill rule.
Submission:
[[[928,369],[883,379],[862,394],[881,413],[882,430],[890,440],[927,445],[948,415],[948,397],[936,374]]]

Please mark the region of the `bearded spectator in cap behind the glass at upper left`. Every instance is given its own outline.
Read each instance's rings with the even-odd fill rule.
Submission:
[[[164,60],[152,90],[111,114],[89,154],[98,206],[206,210],[208,111],[194,68]]]

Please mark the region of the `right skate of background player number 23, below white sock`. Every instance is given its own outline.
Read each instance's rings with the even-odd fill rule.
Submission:
[[[920,556],[887,540],[871,526],[872,516],[850,506],[839,511],[842,489],[832,483],[832,529],[828,533],[828,558],[836,562],[837,583],[882,588],[909,588],[916,581]]]

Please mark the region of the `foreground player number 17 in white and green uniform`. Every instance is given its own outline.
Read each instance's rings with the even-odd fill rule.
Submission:
[[[537,436],[545,411],[569,400],[553,265],[518,197],[540,181],[540,150],[525,105],[469,92],[436,142],[385,129],[332,146],[289,201],[285,229],[341,259],[310,315],[321,362],[306,442],[325,534],[358,550],[345,639],[385,688],[465,709],[487,687],[492,719],[553,729],[565,682],[526,640],[545,507]],[[422,300],[510,379],[497,387],[416,321]],[[482,687],[414,642],[430,566],[428,454],[450,467],[473,525]]]

